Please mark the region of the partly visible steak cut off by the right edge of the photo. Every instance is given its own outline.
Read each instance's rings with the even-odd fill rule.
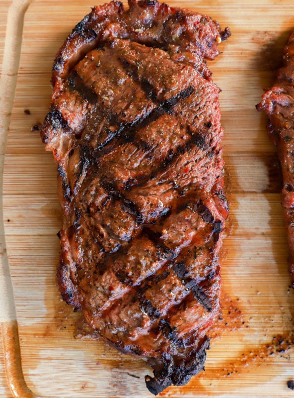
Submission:
[[[268,116],[267,130],[278,147],[283,170],[282,206],[290,249],[289,270],[294,287],[294,32],[284,49],[283,67],[274,86],[265,92],[257,110]]]

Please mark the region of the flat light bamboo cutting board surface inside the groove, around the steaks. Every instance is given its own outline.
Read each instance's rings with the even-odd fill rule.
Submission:
[[[96,2],[101,3],[101,1]],[[292,397],[294,291],[280,205],[281,173],[263,114],[255,110],[273,82],[282,48],[294,29],[291,0],[169,1],[229,26],[231,38],[210,62],[222,89],[230,219],[222,264],[222,315],[211,331],[206,371],[166,397]],[[151,397],[137,358],[102,341],[80,338],[79,314],[55,286],[61,228],[56,166],[39,126],[50,103],[55,53],[89,1],[33,1],[24,15],[15,100],[5,154],[5,236],[19,327],[22,369],[42,397]],[[29,109],[30,114],[24,110]],[[74,337],[75,336],[75,337]],[[9,397],[4,381],[3,397]],[[1,392],[1,390],[0,390]]]

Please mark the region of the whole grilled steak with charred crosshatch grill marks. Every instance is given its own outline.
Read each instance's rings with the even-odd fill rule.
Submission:
[[[56,56],[41,129],[64,212],[62,297],[157,394],[204,369],[219,312],[219,88],[204,61],[230,35],[157,1],[96,6]]]

